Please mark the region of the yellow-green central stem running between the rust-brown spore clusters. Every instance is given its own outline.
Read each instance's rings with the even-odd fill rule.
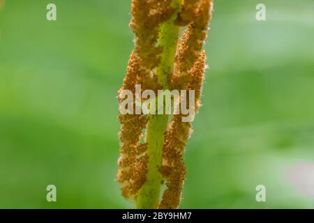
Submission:
[[[172,0],[172,8],[176,13],[162,26],[159,33],[159,45],[163,47],[160,66],[156,69],[158,82],[163,89],[169,89],[168,77],[174,69],[174,56],[177,51],[180,27],[174,24],[181,10],[182,0]],[[147,180],[136,197],[138,209],[158,208],[161,187],[163,185],[158,167],[163,164],[163,141],[167,131],[168,115],[151,115],[146,130],[148,144],[147,155],[149,156]]]

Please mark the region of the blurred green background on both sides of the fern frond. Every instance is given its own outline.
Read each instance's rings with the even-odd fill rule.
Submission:
[[[129,20],[126,0],[6,1],[0,208],[133,208],[115,182]],[[181,208],[314,208],[314,1],[216,0],[205,47]]]

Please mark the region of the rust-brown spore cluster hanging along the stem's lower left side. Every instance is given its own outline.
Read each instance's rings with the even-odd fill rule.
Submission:
[[[133,52],[128,62],[124,86],[120,91],[128,89],[133,91],[133,95],[135,95],[135,84],[139,83],[142,73],[138,56]],[[143,137],[142,130],[146,127],[148,120],[147,116],[120,114],[119,121],[121,123],[121,131],[119,134],[120,157],[118,160],[119,171],[117,180],[121,183],[123,196],[134,198],[135,194],[144,184],[147,174],[148,157],[144,155],[147,145],[140,144],[140,140]],[[140,157],[141,155],[142,157]]]

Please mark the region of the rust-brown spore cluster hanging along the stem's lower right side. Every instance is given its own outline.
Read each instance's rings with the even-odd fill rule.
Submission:
[[[206,56],[204,52],[200,54],[198,61],[195,61],[189,75],[191,82],[188,90],[195,90],[195,112],[200,108],[200,95],[204,80]],[[161,209],[174,209],[179,207],[181,192],[186,178],[186,167],[184,166],[184,148],[192,133],[192,124],[182,122],[182,115],[174,115],[170,128],[165,134],[163,144],[163,167],[160,172],[166,179],[167,189],[163,193],[160,202]]]

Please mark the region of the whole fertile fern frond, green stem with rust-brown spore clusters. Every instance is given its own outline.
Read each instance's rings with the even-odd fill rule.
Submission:
[[[135,86],[140,84],[141,93],[193,91],[195,102],[190,106],[195,105],[197,112],[211,11],[211,0],[133,0],[130,27],[135,33],[135,47],[118,93],[119,102],[124,98],[122,92],[128,90],[134,97],[133,107],[128,109],[137,110]],[[182,96],[180,100],[184,100]],[[184,148],[192,132],[192,123],[183,122],[184,116],[174,114],[170,120],[167,114],[119,114],[117,181],[123,196],[133,199],[137,208],[179,207],[186,178]],[[166,188],[160,200],[163,184]]]

